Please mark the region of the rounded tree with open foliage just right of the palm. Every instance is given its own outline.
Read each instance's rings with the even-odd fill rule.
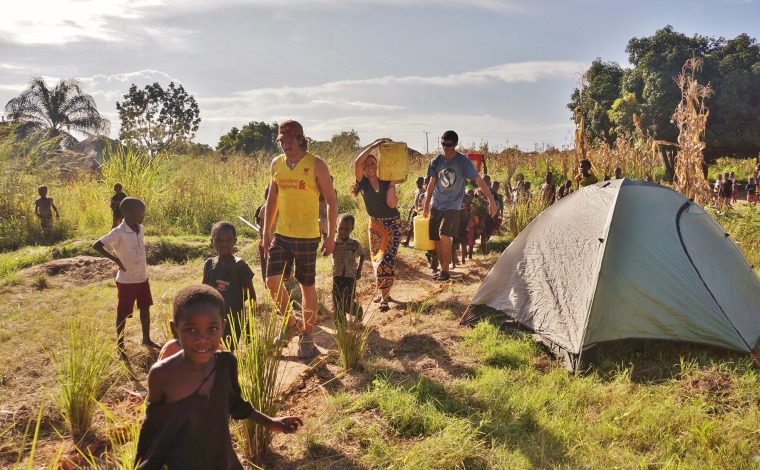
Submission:
[[[201,122],[195,98],[174,82],[166,90],[158,83],[142,90],[132,84],[116,109],[121,119],[119,139],[145,148],[151,156],[191,142]]]

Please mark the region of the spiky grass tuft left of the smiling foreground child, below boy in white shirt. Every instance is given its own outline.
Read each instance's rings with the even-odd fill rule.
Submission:
[[[63,349],[51,355],[58,376],[55,402],[75,440],[90,430],[98,400],[121,371],[115,350],[99,325],[74,318]]]

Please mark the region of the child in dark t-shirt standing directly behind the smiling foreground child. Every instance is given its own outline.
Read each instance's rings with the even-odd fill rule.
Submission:
[[[256,302],[253,290],[253,271],[242,259],[232,254],[237,242],[237,232],[231,222],[217,222],[211,228],[211,246],[216,256],[208,258],[203,264],[203,284],[215,288],[224,299],[224,314],[232,318],[232,325],[227,322],[224,338],[233,338],[236,344],[240,339],[245,318],[245,301]]]

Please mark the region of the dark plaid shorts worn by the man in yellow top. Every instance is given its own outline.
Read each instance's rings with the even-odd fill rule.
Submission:
[[[319,241],[320,237],[293,238],[275,233],[269,245],[267,277],[282,276],[286,266],[295,262],[298,283],[313,286],[317,277]]]

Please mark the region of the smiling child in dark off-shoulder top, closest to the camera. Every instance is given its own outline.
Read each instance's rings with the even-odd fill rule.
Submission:
[[[243,400],[237,359],[217,351],[223,309],[224,299],[209,286],[188,286],[175,295],[170,325],[183,349],[148,373],[136,468],[243,468],[232,447],[230,417],[287,434],[303,425],[293,416],[271,418]]]

